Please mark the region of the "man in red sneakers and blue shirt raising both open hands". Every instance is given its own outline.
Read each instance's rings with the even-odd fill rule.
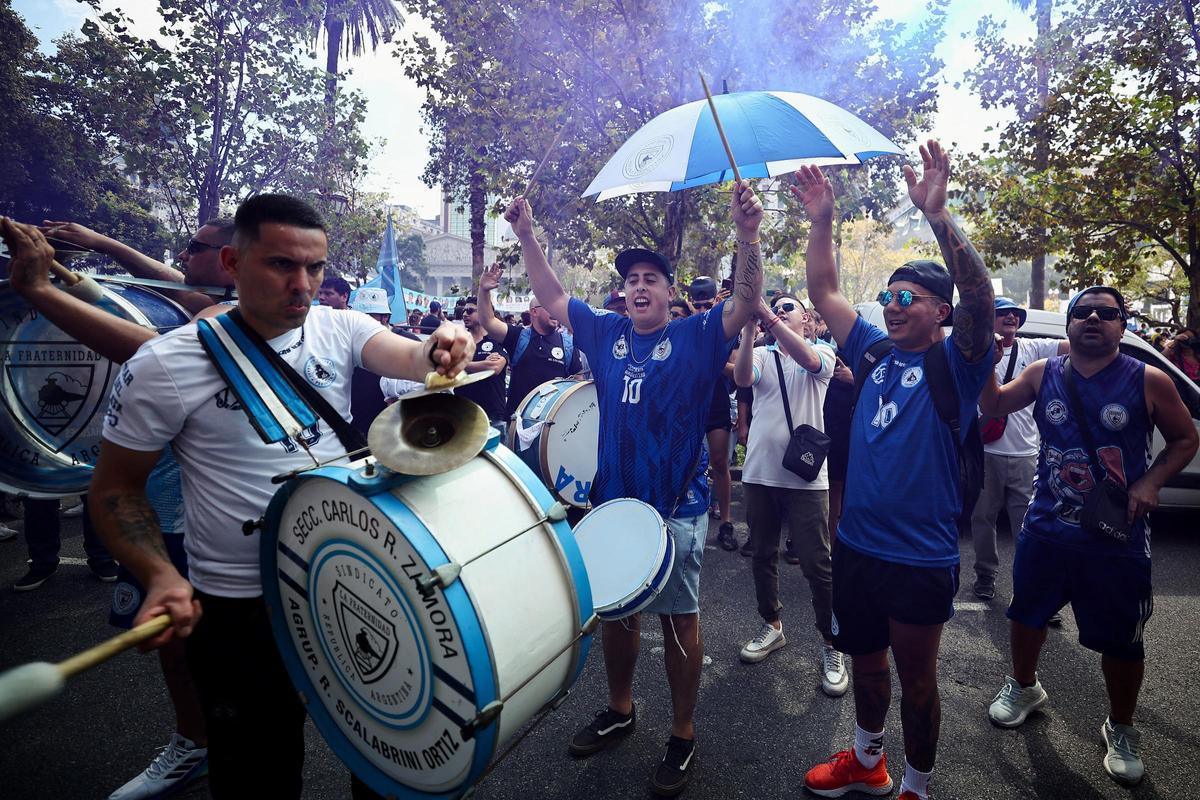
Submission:
[[[919,180],[905,167],[908,198],[924,212],[949,272],[935,261],[910,261],[893,272],[880,293],[886,333],[860,319],[838,290],[829,181],[820,169],[805,167],[793,190],[812,219],[809,296],[847,366],[858,374],[869,350],[884,339],[892,345],[862,375],[850,422],[845,503],[833,549],[832,628],[834,646],[852,657],[858,724],[852,748],[805,776],[810,792],[828,798],[892,790],[883,756],[883,721],[892,704],[889,648],[902,691],[900,800],[929,796],[937,753],[937,650],[958,591],[959,450],[970,428],[962,425],[955,441],[936,410],[935,391],[944,396],[946,384],[953,383],[958,419],[976,417],[976,401],[992,367],[995,314],[988,270],[946,207],[949,158],[936,142],[923,145],[920,155]],[[954,333],[943,338],[955,287]]]

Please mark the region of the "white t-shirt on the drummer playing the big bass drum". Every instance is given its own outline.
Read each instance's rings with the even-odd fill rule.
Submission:
[[[350,419],[350,378],[362,366],[362,345],[386,331],[356,311],[314,306],[304,326],[270,339],[298,373]],[[346,453],[329,426],[306,432],[313,456]],[[130,450],[168,443],[182,473],[188,578],[223,597],[263,594],[258,535],[241,524],[258,519],[278,489],[271,477],[312,464],[295,440],[264,444],[200,347],[196,323],[150,339],[113,383],[104,439]]]

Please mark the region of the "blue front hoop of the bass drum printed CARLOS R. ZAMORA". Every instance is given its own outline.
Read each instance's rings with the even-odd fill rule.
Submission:
[[[282,518],[283,509],[287,506],[296,489],[300,488],[306,481],[324,479],[335,483],[341,483],[350,491],[356,491],[362,487],[354,486],[352,483],[352,476],[359,475],[360,469],[361,468],[352,469],[347,467],[322,467],[292,479],[271,498],[264,517],[263,531],[259,534],[259,570],[264,573],[264,577],[271,577],[269,581],[263,581],[263,596],[268,603],[268,608],[276,609],[275,613],[269,614],[271,632],[275,634],[276,649],[280,651],[280,657],[283,660],[283,667],[287,670],[288,676],[292,679],[293,687],[295,687],[304,696],[305,708],[312,717],[313,724],[317,726],[317,730],[320,732],[322,738],[329,745],[330,750],[334,751],[338,759],[346,764],[354,775],[380,794],[395,793],[398,787],[403,793],[412,793],[421,796],[454,796],[456,793],[479,780],[479,776],[482,775],[484,770],[487,768],[487,764],[491,762],[492,756],[496,752],[499,724],[493,723],[486,726],[475,734],[473,739],[475,752],[472,754],[470,766],[461,783],[440,792],[428,792],[401,783],[367,760],[366,756],[359,752],[358,747],[355,747],[350,742],[349,738],[342,733],[341,727],[330,710],[325,708],[325,704],[317,699],[317,692],[319,690],[310,679],[308,670],[305,668],[299,654],[296,652],[294,640],[292,639],[292,634],[283,614],[282,593],[280,591],[278,579],[276,577],[278,572],[278,537],[275,535],[268,535],[268,531],[278,530],[278,523]],[[401,476],[397,474],[396,477],[400,479],[401,482],[406,482],[407,480],[412,480],[418,476]],[[390,510],[380,506],[379,500],[383,500],[385,505],[386,501],[390,500],[395,506],[410,512],[407,505],[394,498],[388,491],[388,488],[395,485],[396,483],[394,482],[380,482],[379,492],[365,494],[361,491],[356,491],[356,493],[364,501],[370,503],[385,516],[390,515]],[[425,561],[426,566],[437,567],[442,564],[449,563],[449,558],[446,558],[442,546],[438,543],[437,539],[433,537],[428,528],[425,527],[425,523],[415,515],[413,515],[413,518],[419,525],[419,529],[414,533],[419,536],[419,539],[426,541],[414,541],[413,539],[408,539],[408,543],[414,551],[416,551],[418,555],[421,557],[421,560]],[[438,558],[430,558],[433,554]],[[479,714],[479,711],[487,704],[499,699],[496,680],[496,662],[492,657],[492,649],[488,645],[486,637],[484,637],[481,620],[479,619],[474,603],[470,601],[462,582],[454,582],[448,588],[442,590],[442,593],[448,608],[450,608],[454,613],[455,624],[457,625],[460,636],[462,637],[463,655],[466,656],[468,652],[481,652],[482,657],[487,661],[486,664],[480,664],[474,657],[467,658],[467,666],[470,672],[472,682],[474,684],[473,691],[475,694],[475,712]],[[466,614],[460,616],[460,609],[463,606],[470,610],[469,616]],[[280,646],[281,640],[286,642],[287,646]],[[336,735],[326,735],[326,730],[332,732],[332,734]]]

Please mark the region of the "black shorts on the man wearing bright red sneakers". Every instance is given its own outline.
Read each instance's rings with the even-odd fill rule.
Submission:
[[[908,566],[833,547],[833,644],[856,656],[892,643],[889,620],[941,625],[954,616],[959,565]]]

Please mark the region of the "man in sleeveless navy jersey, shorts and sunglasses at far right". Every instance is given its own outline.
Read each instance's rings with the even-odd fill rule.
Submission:
[[[988,716],[1015,728],[1046,702],[1038,654],[1046,621],[1069,602],[1079,643],[1102,654],[1109,694],[1100,726],[1104,770],[1133,786],[1145,774],[1133,714],[1145,672],[1142,630],[1154,609],[1146,512],[1192,461],[1196,431],[1166,373],[1120,353],[1124,308],[1111,287],[1076,294],[1067,306],[1070,355],[1037,361],[1004,386],[988,381],[979,407],[1000,415],[1034,403],[1042,434],[1033,500],[1013,558],[1013,674]],[[1154,427],[1166,446],[1150,464]],[[1096,530],[1084,513],[1105,483],[1128,493],[1120,515],[1129,524],[1124,536]]]

